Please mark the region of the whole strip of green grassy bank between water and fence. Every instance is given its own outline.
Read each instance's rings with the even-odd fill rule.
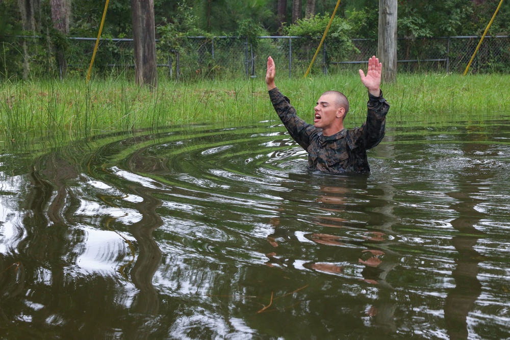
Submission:
[[[308,121],[317,98],[329,89],[344,92],[350,100],[346,125],[361,124],[366,114],[366,90],[355,73],[313,79],[281,76],[277,86]],[[388,124],[392,124],[509,113],[509,87],[510,77],[497,74],[400,74],[396,84],[383,84],[382,90],[391,104]],[[154,92],[125,79],[88,84],[83,79],[4,82],[0,87],[0,132],[5,138],[204,122],[239,125],[275,118],[261,78],[193,83],[161,79]]]

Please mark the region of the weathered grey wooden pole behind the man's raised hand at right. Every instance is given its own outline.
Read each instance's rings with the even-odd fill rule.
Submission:
[[[377,54],[382,63],[382,80],[397,80],[397,0],[379,0]]]

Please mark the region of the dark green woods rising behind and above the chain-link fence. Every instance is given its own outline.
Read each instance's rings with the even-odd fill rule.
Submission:
[[[180,3],[154,0],[156,39],[164,48],[179,50],[187,36],[248,37],[321,34],[322,23],[333,12],[336,0],[188,0]],[[414,40],[443,36],[480,35],[487,27],[499,0],[444,0],[398,2],[397,36]],[[69,37],[97,36],[104,0],[0,0],[0,76],[57,77],[83,70],[70,65],[68,56],[78,42]],[[337,11],[338,30],[330,36],[343,40],[377,38],[378,0],[344,0]],[[102,36],[133,38],[132,6],[111,0]],[[510,4],[504,2],[489,35],[507,35]],[[318,24],[321,23],[321,24]],[[319,30],[320,28],[320,30]],[[251,38],[250,38],[251,37]],[[72,43],[71,43],[72,41]],[[93,42],[80,42],[92,49]],[[159,48],[162,48],[161,46]],[[132,64],[133,51],[120,44],[103,43],[95,67],[109,62]],[[508,51],[506,53],[509,53]],[[84,55],[84,60],[90,56]],[[167,61],[165,61],[166,63]],[[198,67],[197,67],[198,69]]]

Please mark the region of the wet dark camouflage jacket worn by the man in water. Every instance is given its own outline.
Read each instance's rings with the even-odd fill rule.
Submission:
[[[308,124],[278,88],[269,91],[274,110],[290,136],[308,151],[308,168],[323,172],[369,172],[367,150],[384,137],[386,114],[390,104],[382,97],[368,94],[367,121],[361,127],[343,129],[332,136],[323,136],[322,129]]]

